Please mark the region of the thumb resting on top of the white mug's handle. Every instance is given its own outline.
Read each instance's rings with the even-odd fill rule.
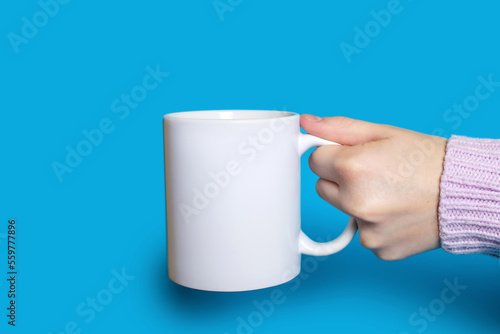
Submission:
[[[350,146],[388,138],[396,129],[347,117],[313,115],[301,115],[300,126],[311,135]]]

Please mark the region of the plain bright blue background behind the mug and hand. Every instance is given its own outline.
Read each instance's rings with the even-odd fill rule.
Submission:
[[[276,288],[202,292],[167,278],[165,113],[277,109],[499,137],[500,89],[457,128],[444,118],[474,94],[478,76],[500,81],[497,2],[402,1],[348,63],[340,43],[353,45],[354,28],[364,29],[370,11],[388,1],[228,1],[223,20],[212,1],[70,1],[48,22],[38,17],[41,27],[17,53],[8,34],[21,35],[23,17],[33,21],[41,7],[2,5],[2,332],[59,333],[74,321],[82,333],[232,334],[238,317],[255,316],[254,301],[269,299]],[[168,77],[120,119],[113,101],[157,65]],[[75,149],[82,130],[105,118],[113,131],[60,182],[53,162],[64,163],[66,146]],[[333,237],[346,217],[316,195],[316,177],[302,162],[303,229],[314,239]],[[4,315],[10,218],[18,224],[15,329]],[[356,239],[324,261],[303,262],[306,275],[277,287],[285,301],[247,332],[499,331],[497,259],[436,250],[383,262]],[[122,268],[135,278],[87,323],[77,307],[106,292],[113,269]],[[412,324],[409,317],[455,278],[467,289],[425,329]]]

